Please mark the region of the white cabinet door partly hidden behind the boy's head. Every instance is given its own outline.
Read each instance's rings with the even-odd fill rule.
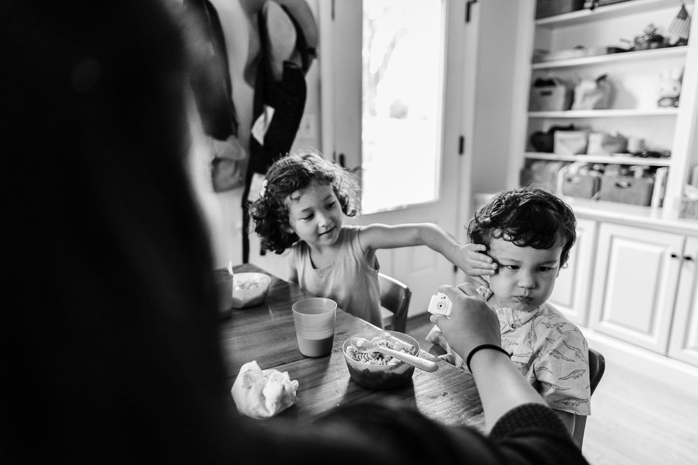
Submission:
[[[588,321],[591,269],[594,264],[596,222],[577,219],[577,242],[570,250],[567,267],[560,270],[549,301],[573,323]]]

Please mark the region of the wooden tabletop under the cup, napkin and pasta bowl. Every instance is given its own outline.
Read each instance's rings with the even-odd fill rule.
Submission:
[[[236,266],[234,271],[267,273],[252,264]],[[412,383],[391,390],[370,390],[354,383],[341,346],[351,335],[375,327],[341,309],[337,310],[332,353],[321,358],[303,356],[296,343],[291,305],[313,295],[267,274],[272,276],[272,284],[265,303],[233,309],[230,318],[221,321],[223,356],[231,388],[240,367],[256,360],[262,369],[288,372],[291,379],[298,380],[297,404],[279,416],[309,420],[340,404],[376,401],[412,406],[445,425],[470,425],[484,430],[482,405],[473,376],[423,350],[422,358],[438,361],[436,372],[417,368]]]

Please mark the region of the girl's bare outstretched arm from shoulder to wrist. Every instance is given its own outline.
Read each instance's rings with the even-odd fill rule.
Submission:
[[[461,245],[438,224],[369,224],[359,232],[359,241],[364,249],[373,250],[426,245],[464,272],[468,270],[467,246]]]

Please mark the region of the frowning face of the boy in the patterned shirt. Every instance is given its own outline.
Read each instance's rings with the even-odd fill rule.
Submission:
[[[489,246],[488,254],[498,264],[489,280],[493,307],[530,312],[548,300],[560,272],[561,244],[534,249],[493,239]]]

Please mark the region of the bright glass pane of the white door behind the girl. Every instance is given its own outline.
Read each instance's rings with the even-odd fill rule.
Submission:
[[[362,210],[375,213],[436,201],[445,51],[442,2],[363,4]]]

